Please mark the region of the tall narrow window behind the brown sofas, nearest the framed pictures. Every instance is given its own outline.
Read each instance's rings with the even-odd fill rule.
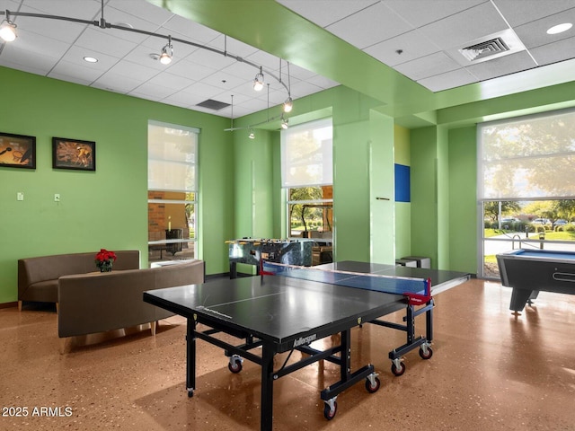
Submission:
[[[150,262],[196,256],[198,135],[196,128],[148,122]]]

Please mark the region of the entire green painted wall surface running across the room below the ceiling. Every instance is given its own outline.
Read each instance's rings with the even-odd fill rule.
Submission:
[[[237,119],[237,127],[261,123],[252,140],[245,130],[225,132],[229,119],[214,115],[4,67],[0,80],[10,101],[0,105],[0,131],[37,137],[36,170],[0,168],[0,303],[16,301],[24,257],[135,248],[147,265],[148,119],[201,129],[198,257],[208,274],[228,270],[226,240],[285,236],[279,124],[265,123],[267,111]],[[552,110],[574,87],[438,110],[425,117],[429,126],[411,129],[344,86],[298,99],[290,124],[333,119],[335,259],[392,263],[409,253],[429,256],[434,268],[476,273],[474,123]],[[52,136],[95,141],[97,171],[53,170]],[[410,207],[394,203],[394,160],[411,166]]]

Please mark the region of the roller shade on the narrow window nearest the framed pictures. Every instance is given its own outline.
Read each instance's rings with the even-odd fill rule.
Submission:
[[[150,190],[197,191],[199,129],[148,122]]]

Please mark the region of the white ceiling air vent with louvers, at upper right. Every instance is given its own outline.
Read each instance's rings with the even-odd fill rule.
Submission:
[[[483,61],[509,56],[525,50],[525,45],[511,29],[491,33],[476,40],[469,40],[446,50],[447,55],[461,66],[471,66]]]

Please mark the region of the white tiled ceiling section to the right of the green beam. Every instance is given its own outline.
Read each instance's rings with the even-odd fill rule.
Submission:
[[[546,33],[557,23],[575,22],[572,0],[381,0],[357,2],[355,7],[342,2],[337,11],[328,13],[337,17],[332,23],[322,13],[324,1],[277,1],[432,92],[574,57],[571,44],[560,42],[575,40],[575,28],[558,35]],[[515,32],[526,51],[518,54],[511,49],[506,57],[481,63],[459,56],[458,49],[500,31]]]

